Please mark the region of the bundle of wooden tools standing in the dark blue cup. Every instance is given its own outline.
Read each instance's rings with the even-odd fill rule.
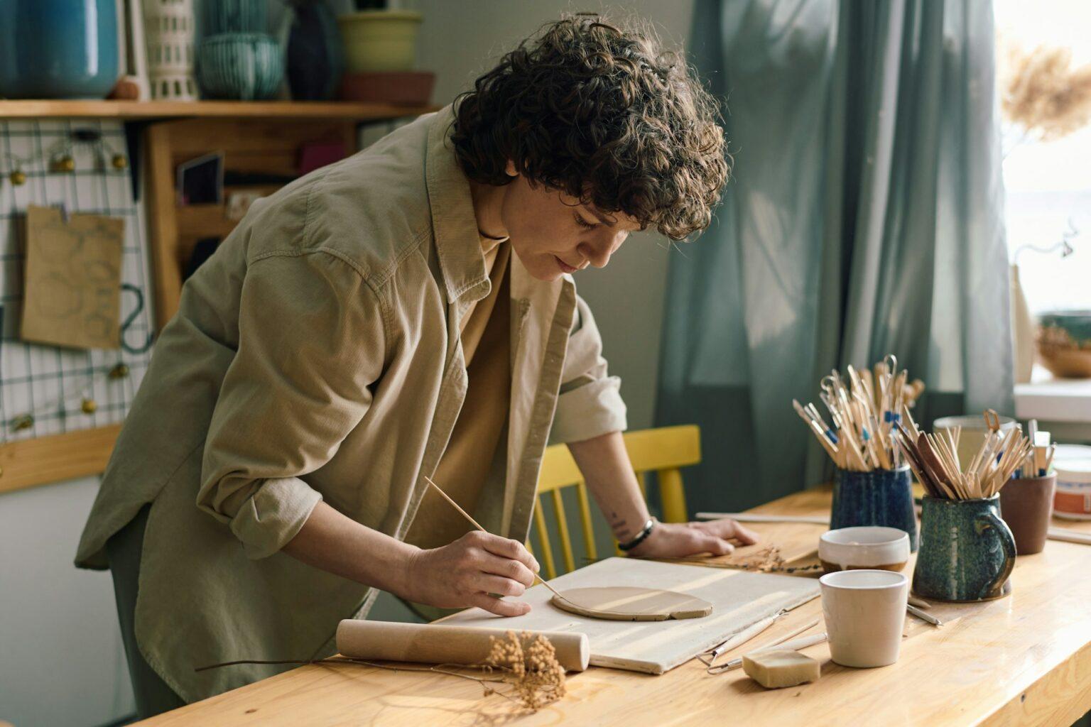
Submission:
[[[891,436],[894,426],[909,415],[909,408],[921,396],[924,383],[915,379],[908,384],[909,372],[898,372],[898,359],[892,354],[875,364],[874,371],[856,372],[850,365],[847,374],[848,385],[837,371],[824,376],[820,383],[819,396],[832,426],[813,403],[804,407],[793,399],[792,405],[842,470],[897,470],[901,467],[901,452]]]

